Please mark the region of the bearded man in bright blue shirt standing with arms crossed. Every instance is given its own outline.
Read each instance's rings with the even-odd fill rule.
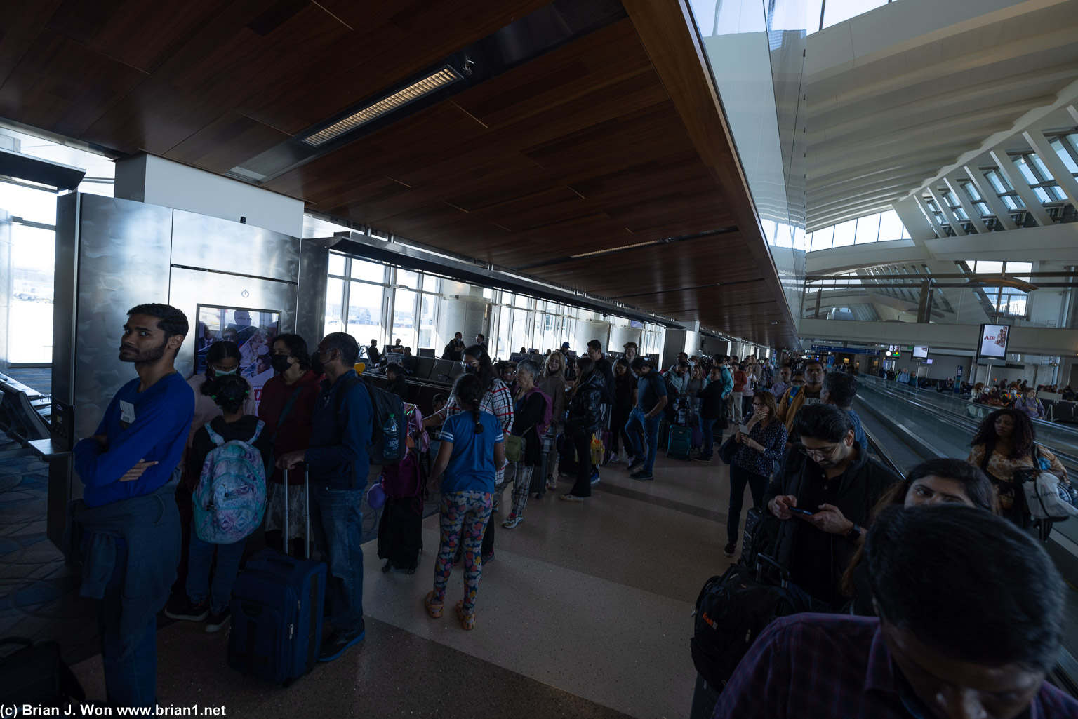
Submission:
[[[138,377],[116,392],[93,437],[74,445],[85,485],[71,503],[66,553],[83,565],[80,594],[99,599],[101,663],[110,705],[156,701],[156,613],[180,558],[174,472],[194,415],[191,387],[175,367],[188,334],[176,307],[127,313],[120,361]]]

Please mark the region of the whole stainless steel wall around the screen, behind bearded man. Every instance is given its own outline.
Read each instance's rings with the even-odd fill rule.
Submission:
[[[53,397],[74,406],[75,440],[94,433],[112,396],[133,379],[119,360],[127,310],[147,302],[184,312],[191,331],[176,369],[194,365],[199,304],[273,309],[280,332],[295,331],[303,300],[308,341],[321,331],[328,250],[305,254],[312,287],[301,287],[301,240],[261,227],[168,207],[98,195],[69,194],[57,203]],[[319,276],[320,274],[320,276]],[[64,509],[82,496],[70,461],[50,471],[49,535],[63,535]]]

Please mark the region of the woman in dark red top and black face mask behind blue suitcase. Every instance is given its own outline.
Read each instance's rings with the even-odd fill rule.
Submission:
[[[310,417],[320,389],[321,372],[312,368],[307,343],[298,334],[279,334],[271,347],[270,361],[277,372],[262,387],[259,419],[266,424],[263,432],[270,438],[274,457],[306,450],[310,440]],[[303,556],[303,537],[307,516],[303,496],[303,473],[291,469],[288,475],[288,497],[285,496],[285,471],[275,468],[266,476],[266,545],[285,547],[285,502],[288,502],[288,536],[291,552]]]

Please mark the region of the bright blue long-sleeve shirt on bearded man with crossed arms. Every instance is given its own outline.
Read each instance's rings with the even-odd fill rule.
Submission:
[[[108,439],[102,447],[85,439],[74,445],[74,471],[86,488],[83,501],[100,507],[151,494],[171,479],[180,464],[191,430],[195,396],[179,373],[158,379],[144,392],[135,378],[109,402],[96,434]],[[156,461],[130,482],[120,478],[141,459]]]

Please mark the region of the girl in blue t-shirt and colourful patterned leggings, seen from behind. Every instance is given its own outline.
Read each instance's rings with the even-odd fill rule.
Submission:
[[[479,409],[483,392],[479,376],[462,374],[457,378],[453,393],[461,412],[442,425],[442,445],[430,474],[432,488],[442,480],[442,539],[434,561],[434,590],[423,603],[431,617],[442,616],[453,556],[464,542],[465,598],[457,603],[457,618],[466,630],[475,626],[475,595],[483,571],[480,548],[490,521],[495,474],[506,464],[501,424]]]

